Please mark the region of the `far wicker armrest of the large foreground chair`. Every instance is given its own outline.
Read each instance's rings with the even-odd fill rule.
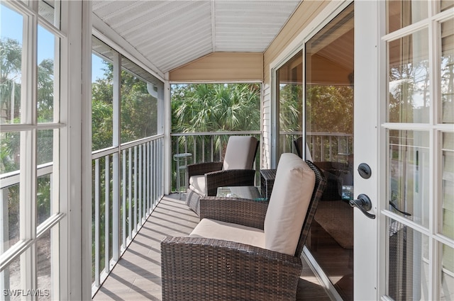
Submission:
[[[200,219],[211,218],[263,229],[267,208],[267,201],[206,196],[200,199]]]

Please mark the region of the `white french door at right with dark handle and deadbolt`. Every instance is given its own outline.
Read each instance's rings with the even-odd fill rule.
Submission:
[[[355,299],[453,300],[454,3],[356,1],[355,42]]]

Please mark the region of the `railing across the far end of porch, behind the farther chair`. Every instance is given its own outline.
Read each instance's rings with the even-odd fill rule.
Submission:
[[[191,153],[191,163],[221,161],[226,152],[228,137],[253,136],[260,140],[260,131],[240,131],[240,132],[191,132],[191,133],[172,133],[172,157],[175,154]],[[260,166],[260,147],[255,157],[254,169]],[[177,186],[177,164],[172,161],[172,191]]]

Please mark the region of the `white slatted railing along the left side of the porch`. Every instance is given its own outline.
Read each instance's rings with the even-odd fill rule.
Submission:
[[[92,153],[92,295],[164,192],[164,137]]]

